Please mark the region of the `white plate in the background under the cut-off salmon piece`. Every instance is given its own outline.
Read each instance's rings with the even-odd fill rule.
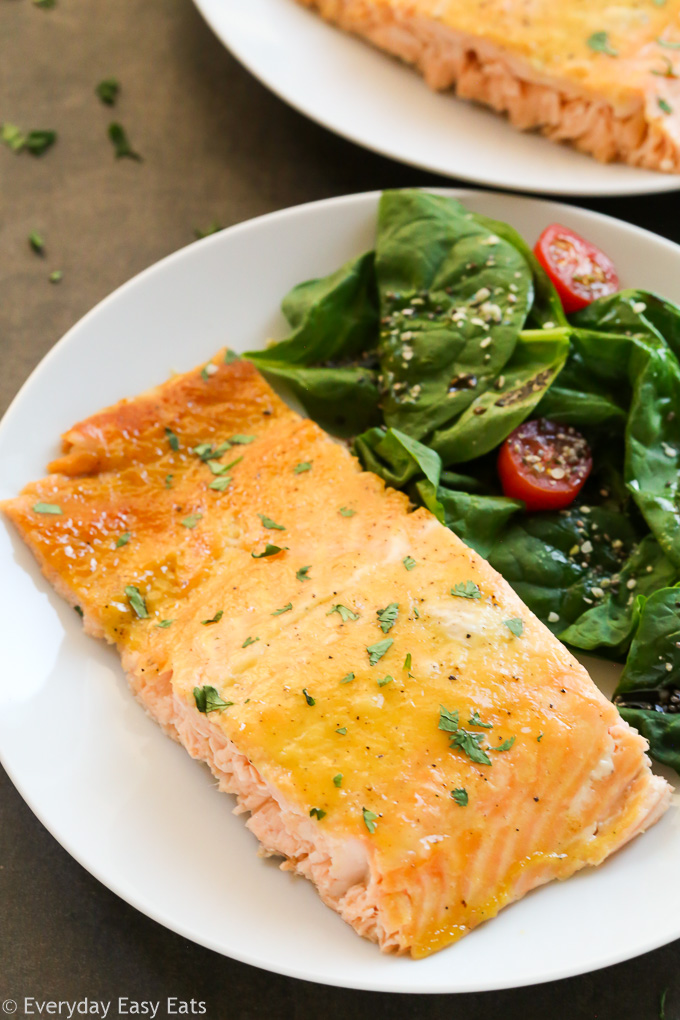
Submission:
[[[545,195],[637,195],[680,176],[603,164],[481,106],[431,92],[419,74],[326,24],[295,0],[194,0],[215,35],[297,110],[404,163]]]

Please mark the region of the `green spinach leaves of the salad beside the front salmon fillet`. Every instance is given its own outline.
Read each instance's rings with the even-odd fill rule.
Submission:
[[[624,662],[619,711],[680,770],[680,308],[623,290],[567,315],[512,226],[395,191],[375,250],[282,310],[289,336],[247,357],[559,639]],[[499,448],[528,419],[573,426],[591,451],[564,509],[503,493]]]

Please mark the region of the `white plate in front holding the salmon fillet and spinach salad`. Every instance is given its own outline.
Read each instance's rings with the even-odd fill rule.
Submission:
[[[624,284],[680,301],[680,248],[668,241],[555,203],[454,194],[529,240],[559,219],[615,255]],[[75,420],[172,368],[205,361],[223,344],[243,351],[281,336],[281,296],[369,248],[376,202],[375,194],[350,196],[234,226],[164,259],[98,305],[7,412],[0,498],[43,475],[57,437]],[[383,957],[309,882],[256,857],[230,798],[147,718],[116,654],[83,633],[6,524],[0,621],[0,752],[14,783],[86,868],[194,941],[327,984],[470,991],[577,974],[680,935],[680,818],[671,810],[604,867],[532,892],[458,946],[417,963]],[[611,690],[611,666],[596,665],[595,675]]]

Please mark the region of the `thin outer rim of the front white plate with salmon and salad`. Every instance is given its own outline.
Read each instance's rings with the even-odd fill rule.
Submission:
[[[465,201],[466,198],[469,199],[472,196],[478,197],[486,195],[495,195],[496,197],[503,199],[504,201],[513,203],[519,202],[528,206],[535,207],[540,205],[550,205],[550,206],[558,206],[564,210],[576,209],[579,212],[585,213],[589,218],[592,218],[595,221],[604,221],[616,224],[619,227],[623,226],[632,236],[647,237],[653,239],[656,243],[662,243],[663,246],[668,247],[669,252],[673,252],[676,258],[680,258],[680,244],[676,244],[675,242],[669,240],[668,238],[663,238],[662,236],[657,235],[651,231],[637,226],[636,224],[628,223],[625,220],[621,220],[607,213],[594,212],[592,210],[584,209],[579,206],[573,206],[573,205],[567,205],[566,203],[555,202],[553,199],[516,196],[513,194],[509,194],[507,192],[485,192],[471,188],[447,188],[447,187],[439,187],[439,188],[425,187],[422,190],[450,196],[453,198],[458,198],[462,201]],[[109,304],[114,303],[123,292],[132,291],[138,286],[144,286],[146,279],[148,279],[152,275],[163,272],[164,268],[169,263],[181,262],[184,259],[191,258],[192,257],[191,250],[194,249],[195,246],[197,245],[202,245],[204,247],[212,245],[218,247],[223,243],[222,239],[225,235],[228,235],[229,237],[233,238],[234,236],[238,236],[241,233],[247,233],[248,231],[252,230],[255,226],[259,226],[270,221],[296,217],[299,216],[300,214],[306,215],[328,207],[335,208],[343,205],[355,205],[355,204],[358,205],[365,204],[368,206],[371,203],[376,202],[381,193],[382,193],[381,190],[351,193],[348,195],[334,196],[332,198],[319,199],[313,202],[305,202],[295,206],[287,206],[283,209],[275,210],[269,213],[264,213],[260,216],[253,217],[252,219],[234,223],[231,226],[227,227],[226,230],[220,232],[219,234],[202,239],[201,241],[193,242],[192,244],[187,245],[184,248],[180,248],[174,252],[171,252],[168,255],[164,256],[162,259],[158,260],[157,262],[154,262],[151,265],[147,266],[145,269],[141,270],[133,277],[130,277],[128,280],[120,285],[109,295],[107,295],[101,301],[99,301],[88,312],[86,312],[86,314],[82,316],[75,323],[73,323],[73,325],[71,325],[67,329],[67,332],[53,345],[53,347],[47,352],[47,354],[38,362],[38,364],[29,374],[28,378],[20,386],[16,395],[14,396],[9,406],[7,407],[7,410],[0,419],[0,441],[2,440],[4,429],[7,427],[7,422],[10,421],[11,419],[11,414],[14,407],[18,405],[24,398],[25,393],[30,390],[31,386],[34,384],[34,380],[38,378],[40,375],[42,375],[43,372],[49,371],[53,359],[59,356],[59,352],[63,349],[63,347],[65,347],[68,343],[71,342],[72,337],[74,335],[77,335],[82,328],[87,328],[90,323],[90,320],[96,317],[96,315],[103,308],[107,307]],[[327,976],[314,973],[310,974],[308,971],[305,971],[304,968],[296,968],[287,965],[272,963],[269,959],[265,960],[262,958],[258,958],[256,955],[253,955],[251,953],[234,952],[231,949],[229,950],[228,953],[226,953],[223,947],[221,947],[218,941],[201,933],[200,930],[196,929],[191,924],[178,922],[174,918],[169,917],[162,910],[154,906],[148,899],[145,898],[145,896],[143,895],[133,896],[128,894],[126,890],[124,890],[124,886],[118,879],[115,878],[115,876],[111,877],[110,875],[105,875],[104,874],[105,869],[102,869],[96,863],[93,863],[93,861],[88,857],[86,853],[82,854],[80,851],[77,851],[73,847],[71,838],[64,835],[64,833],[59,829],[59,826],[56,823],[48,822],[48,820],[44,817],[44,811],[42,807],[36,807],[32,795],[30,793],[27,793],[25,786],[28,785],[28,783],[25,783],[21,779],[21,777],[15,773],[15,770],[12,769],[9,763],[7,762],[5,750],[1,744],[0,744],[0,764],[2,764],[10,781],[18,792],[21,799],[24,801],[24,803],[27,804],[29,809],[33,812],[33,814],[39,819],[41,824],[48,830],[48,832],[50,832],[50,834],[56,839],[56,842],[82,867],[84,867],[90,874],[92,874],[98,881],[100,881],[107,889],[112,891],[115,896],[119,897],[123,902],[127,903],[134,909],[139,910],[147,917],[151,918],[152,920],[156,921],[159,924],[162,924],[164,927],[175,932],[181,937],[189,938],[192,941],[196,942],[197,945],[200,945],[213,952],[216,952],[221,956],[226,956],[227,959],[234,959],[242,963],[258,967],[260,969],[263,969],[271,973],[281,974],[284,976],[295,977],[301,980],[307,980],[313,983],[324,984],[333,987],[346,987],[346,988],[354,988],[367,991],[370,990],[387,991],[400,994],[401,993],[441,994],[441,993],[459,993],[459,992],[468,993],[468,992],[479,992],[481,990],[498,991],[506,988],[531,986],[533,984],[542,984],[550,981],[561,980],[567,977],[575,977],[581,974],[591,973],[592,971],[599,970],[617,963],[625,962],[626,960],[629,959],[635,959],[638,956],[642,956],[647,952],[651,952],[652,950],[669,945],[669,942],[673,940],[669,939],[666,934],[662,934],[658,938],[649,939],[644,945],[643,948],[634,949],[632,953],[630,952],[630,950],[618,950],[610,952],[603,951],[595,960],[590,959],[582,966],[578,965],[576,969],[574,969],[573,966],[569,965],[562,968],[556,965],[551,971],[546,971],[538,977],[520,976],[516,981],[513,981],[512,983],[509,983],[506,980],[501,980],[499,982],[492,981],[489,984],[485,984],[483,987],[479,987],[478,984],[471,984],[471,985],[463,984],[460,987],[449,988],[449,989],[442,989],[441,987],[438,986],[429,988],[419,987],[414,992],[414,990],[409,987],[402,987],[402,986],[389,987],[388,971],[385,971],[385,977],[387,978],[386,981],[382,981],[381,979],[376,980],[375,978],[370,978],[365,980],[357,979],[356,977],[344,978],[342,974],[337,974],[333,976],[331,982],[328,980]],[[678,928],[678,932],[674,936],[674,938],[677,937],[680,937],[680,927]],[[412,961],[412,963],[414,967],[417,967],[418,965],[417,961]]]

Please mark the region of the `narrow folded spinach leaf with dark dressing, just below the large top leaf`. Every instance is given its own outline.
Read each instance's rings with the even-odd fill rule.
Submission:
[[[500,446],[529,417],[568,354],[568,329],[522,334],[493,387],[477,397],[454,424],[434,432],[430,445],[442,462],[460,464]]]

